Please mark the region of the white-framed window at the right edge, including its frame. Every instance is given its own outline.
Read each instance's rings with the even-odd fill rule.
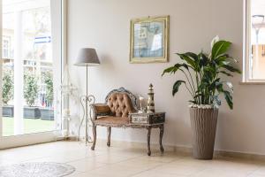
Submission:
[[[265,82],[265,1],[246,0],[246,82]]]

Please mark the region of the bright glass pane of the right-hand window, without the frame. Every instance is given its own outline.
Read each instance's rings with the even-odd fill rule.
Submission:
[[[265,79],[265,1],[251,0],[249,79]]]

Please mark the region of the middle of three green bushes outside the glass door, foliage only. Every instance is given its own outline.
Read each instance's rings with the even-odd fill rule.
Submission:
[[[27,105],[32,107],[38,97],[39,85],[35,74],[26,72],[24,75],[24,97]]]

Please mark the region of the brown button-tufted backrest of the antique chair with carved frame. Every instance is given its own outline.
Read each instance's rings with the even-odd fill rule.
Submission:
[[[117,117],[128,117],[136,111],[136,97],[124,88],[115,89],[106,97],[110,111]]]

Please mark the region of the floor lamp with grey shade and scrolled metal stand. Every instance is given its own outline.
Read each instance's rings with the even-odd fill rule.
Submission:
[[[84,48],[84,49],[79,50],[79,55],[78,55],[77,62],[75,63],[75,65],[86,66],[87,74],[88,74],[88,66],[100,65],[100,61],[97,57],[95,49]],[[92,95],[88,96],[87,77],[86,77],[86,96],[83,96],[83,97],[84,97],[84,101],[86,102],[86,105],[85,105],[86,107],[85,107],[85,114],[81,121],[80,127],[82,126],[84,119],[86,119],[86,145],[87,145],[87,142],[89,142],[88,141],[88,104],[91,103],[92,100],[95,102],[95,96],[92,96]],[[81,97],[81,100],[82,100],[82,97]],[[79,130],[80,130],[80,127],[79,127]]]

